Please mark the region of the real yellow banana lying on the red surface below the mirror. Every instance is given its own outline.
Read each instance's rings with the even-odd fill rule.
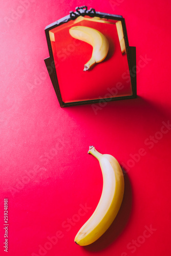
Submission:
[[[99,203],[89,220],[80,228],[75,237],[78,245],[92,244],[110,227],[122,203],[124,178],[118,161],[111,155],[100,154],[94,146],[89,154],[100,163],[103,176],[103,189]]]

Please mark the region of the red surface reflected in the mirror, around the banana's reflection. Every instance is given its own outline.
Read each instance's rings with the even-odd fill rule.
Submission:
[[[55,34],[55,42],[51,42],[56,73],[63,102],[105,98],[110,90],[117,90],[117,96],[132,95],[131,82],[127,72],[129,65],[126,54],[121,53],[115,23],[101,23],[98,20],[81,20],[68,25],[63,24],[51,31]],[[109,53],[105,60],[84,72],[84,64],[92,56],[92,46],[76,40],[69,34],[74,26],[86,26],[103,33],[109,41]],[[65,38],[65,39],[63,39]],[[126,77],[125,77],[126,76]],[[109,96],[108,96],[109,97]]]

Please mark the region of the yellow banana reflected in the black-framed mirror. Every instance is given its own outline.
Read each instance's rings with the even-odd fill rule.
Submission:
[[[89,70],[95,63],[99,63],[105,59],[109,51],[108,39],[98,30],[75,26],[69,29],[72,37],[88,42],[93,47],[91,59],[84,65],[83,71]]]

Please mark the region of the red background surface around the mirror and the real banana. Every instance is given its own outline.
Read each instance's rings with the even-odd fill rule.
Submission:
[[[44,29],[82,4],[7,0],[1,7],[1,255],[4,198],[10,256],[170,255],[170,2],[88,0],[88,8],[125,18],[137,48],[138,98],[61,109],[44,63]],[[89,144],[127,174],[116,220],[83,248],[74,237],[102,190]]]

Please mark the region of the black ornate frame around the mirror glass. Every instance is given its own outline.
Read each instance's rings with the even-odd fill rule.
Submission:
[[[79,16],[85,16],[88,15],[90,17],[100,17],[100,18],[107,18],[107,19],[115,19],[115,20],[120,20],[122,23],[122,28],[123,28],[123,34],[124,34],[124,39],[125,39],[125,47],[126,47],[126,54],[127,54],[127,61],[129,65],[129,70],[131,71],[133,67],[136,66],[136,47],[130,47],[129,46],[129,40],[127,37],[127,31],[126,31],[126,25],[125,25],[125,19],[120,16],[120,15],[114,15],[114,14],[108,14],[108,13],[103,13],[103,12],[96,12],[95,9],[91,8],[88,10],[87,6],[81,6],[81,7],[76,7],[76,11],[73,12],[71,11],[69,15],[57,20],[56,22],[50,24],[45,28],[45,33],[46,33],[46,39],[47,39],[47,44],[48,44],[48,49],[49,49],[49,55],[50,57],[44,59],[48,73],[50,75],[56,96],[58,98],[59,104],[61,107],[64,106],[72,106],[72,105],[82,105],[82,104],[90,104],[90,103],[98,103],[101,101],[101,99],[94,99],[94,100],[83,100],[83,101],[75,101],[75,102],[63,102],[59,90],[59,84],[58,84],[58,79],[57,79],[57,74],[56,74],[56,69],[54,65],[54,58],[53,58],[53,52],[52,52],[52,47],[51,47],[51,41],[50,41],[50,36],[49,36],[49,31],[53,28],[56,28],[62,24],[65,24],[69,22],[70,20],[74,20]],[[122,100],[122,99],[133,99],[137,97],[137,83],[136,83],[136,74],[134,72],[134,75],[131,75],[132,72],[130,72],[130,77],[131,77],[131,84],[132,84],[132,91],[133,95],[130,96],[121,96],[121,97],[113,97],[110,98],[110,101],[114,100]],[[104,100],[109,101],[109,98],[104,98]]]

